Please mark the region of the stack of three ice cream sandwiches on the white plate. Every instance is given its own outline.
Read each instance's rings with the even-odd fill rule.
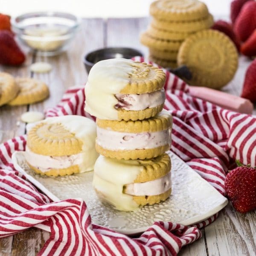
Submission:
[[[100,61],[85,87],[85,111],[96,116],[93,186],[102,201],[131,211],[171,193],[172,116],[162,110],[165,73],[128,59]]]

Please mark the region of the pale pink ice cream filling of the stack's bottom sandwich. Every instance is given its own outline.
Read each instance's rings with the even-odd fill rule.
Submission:
[[[172,187],[171,172],[156,180],[151,180],[142,183],[131,183],[124,187],[125,194],[128,195],[160,195]]]

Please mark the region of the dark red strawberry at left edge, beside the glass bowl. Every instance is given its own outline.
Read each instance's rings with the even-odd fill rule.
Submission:
[[[17,66],[25,61],[25,55],[14,40],[12,32],[0,31],[0,64]]]

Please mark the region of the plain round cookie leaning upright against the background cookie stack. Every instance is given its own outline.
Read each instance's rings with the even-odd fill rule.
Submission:
[[[238,53],[224,33],[207,29],[188,37],[177,57],[192,73],[189,84],[219,89],[236,73]]]

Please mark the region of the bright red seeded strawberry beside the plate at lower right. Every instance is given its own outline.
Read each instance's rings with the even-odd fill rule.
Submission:
[[[256,169],[243,166],[229,172],[225,180],[225,190],[233,207],[242,213],[256,209]]]

